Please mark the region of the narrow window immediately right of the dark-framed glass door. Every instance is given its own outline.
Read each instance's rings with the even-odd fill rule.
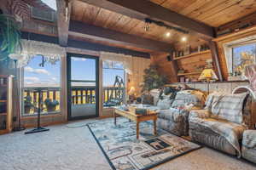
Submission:
[[[125,104],[125,69],[116,61],[103,62],[104,107]]]

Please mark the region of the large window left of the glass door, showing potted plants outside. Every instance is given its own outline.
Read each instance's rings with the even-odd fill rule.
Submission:
[[[37,114],[38,88],[42,92],[42,114],[60,111],[61,60],[41,55],[33,57],[23,71],[23,116]]]

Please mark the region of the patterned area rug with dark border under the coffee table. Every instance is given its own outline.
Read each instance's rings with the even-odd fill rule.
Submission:
[[[136,139],[136,123],[123,117],[93,122],[88,125],[110,166],[118,170],[145,170],[201,148],[200,145],[157,129],[153,135],[150,122],[140,123],[140,138]]]

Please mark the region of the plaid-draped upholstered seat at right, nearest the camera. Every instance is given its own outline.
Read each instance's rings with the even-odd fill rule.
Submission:
[[[243,132],[250,122],[249,94],[210,94],[205,110],[190,111],[189,136],[233,156],[241,156]]]

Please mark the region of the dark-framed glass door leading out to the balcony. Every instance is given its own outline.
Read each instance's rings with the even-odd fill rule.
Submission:
[[[98,116],[98,58],[67,54],[68,120]]]

